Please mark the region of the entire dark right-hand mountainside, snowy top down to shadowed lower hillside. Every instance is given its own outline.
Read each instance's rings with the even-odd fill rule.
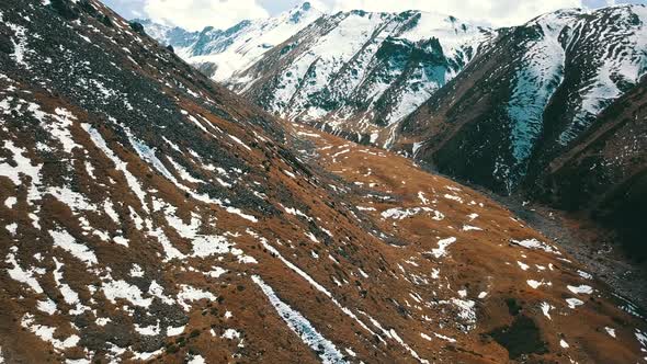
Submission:
[[[645,22],[645,5],[625,5],[560,11],[501,32],[402,123],[396,149],[463,181],[593,218],[644,259],[633,214],[647,158]]]

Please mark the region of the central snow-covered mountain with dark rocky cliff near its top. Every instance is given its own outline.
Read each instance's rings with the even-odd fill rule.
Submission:
[[[464,67],[483,43],[479,37],[492,36],[487,34],[490,32],[487,29],[468,25],[454,16],[421,11],[371,13],[355,10],[319,15],[316,22],[299,30],[303,36],[295,32],[292,34],[294,42],[285,37],[286,43],[268,49],[262,60],[246,62],[229,79],[216,77],[216,80],[291,120],[320,121],[326,117],[343,123],[350,117],[360,128],[371,127],[374,122],[391,125]],[[272,21],[281,18],[283,15]],[[353,30],[357,31],[353,33]],[[435,41],[427,36],[428,31],[438,35]],[[343,55],[334,47],[326,50],[322,44],[334,43],[334,32],[351,41]],[[442,37],[443,34],[446,36]],[[446,56],[442,55],[443,49]],[[402,52],[407,54],[404,57],[395,54]],[[206,58],[179,54],[207,75],[214,69],[202,62]],[[311,60],[304,59],[308,54],[314,55]],[[302,59],[306,64],[291,68],[293,65],[285,58]],[[317,67],[322,75],[317,75]],[[274,73],[268,73],[268,69]],[[343,75],[344,71],[350,73]],[[299,87],[293,90],[295,82]],[[279,92],[282,95],[275,96]],[[331,125],[334,128],[334,123]]]

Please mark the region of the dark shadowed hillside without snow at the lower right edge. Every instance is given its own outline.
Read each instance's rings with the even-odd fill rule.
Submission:
[[[629,255],[647,259],[647,79],[608,107],[529,189],[540,200],[620,232]]]

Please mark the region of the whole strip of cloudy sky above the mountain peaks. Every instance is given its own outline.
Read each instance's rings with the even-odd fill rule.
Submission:
[[[303,0],[102,0],[127,19],[149,18],[169,25],[227,29],[241,20],[275,15]],[[495,26],[522,24],[563,8],[600,8],[647,0],[313,0],[322,11],[363,9],[399,12],[423,10]]]

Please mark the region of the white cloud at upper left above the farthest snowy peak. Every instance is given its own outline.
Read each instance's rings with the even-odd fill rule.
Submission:
[[[146,0],[144,11],[158,22],[192,31],[207,25],[227,29],[241,20],[270,15],[256,0]]]

